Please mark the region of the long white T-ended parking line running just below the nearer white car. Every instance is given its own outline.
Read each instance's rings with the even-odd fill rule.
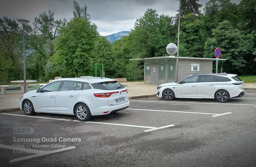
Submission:
[[[0,113],[0,114],[9,115],[9,116],[20,116],[20,117],[32,117],[32,118],[43,118],[43,119],[55,119],[55,120],[64,120],[64,121],[83,122],[83,121],[79,121],[79,120],[61,119],[61,118],[26,116],[26,115],[8,114],[8,113]],[[107,123],[107,122],[93,122],[93,121],[85,121],[83,123],[96,123],[96,124],[107,124],[107,125],[117,125],[117,126],[130,126],[130,127],[139,127],[139,128],[149,128],[149,129],[153,129],[153,130],[164,128],[164,126],[162,126],[162,127],[151,127],[151,126],[139,126],[139,125],[128,125],[128,124]],[[172,126],[175,126],[175,125],[172,125]],[[167,125],[166,127],[170,127],[170,125]],[[152,130],[150,130],[150,131],[152,131]]]

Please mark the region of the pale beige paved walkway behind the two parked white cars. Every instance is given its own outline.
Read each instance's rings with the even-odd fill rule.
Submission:
[[[126,82],[130,98],[149,97],[156,95],[155,84],[145,84],[144,82]],[[244,83],[244,89],[256,89],[256,83]],[[3,109],[19,108],[21,91],[7,92],[5,95],[0,95],[0,111]]]

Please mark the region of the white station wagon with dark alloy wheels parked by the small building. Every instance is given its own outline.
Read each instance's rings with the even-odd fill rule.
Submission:
[[[209,98],[225,103],[230,98],[243,97],[243,81],[235,74],[193,74],[179,82],[157,87],[157,97],[165,100],[178,98]]]

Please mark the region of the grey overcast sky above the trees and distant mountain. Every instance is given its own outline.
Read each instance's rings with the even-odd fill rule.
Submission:
[[[179,8],[177,0],[77,0],[80,6],[88,7],[91,20],[98,26],[101,35],[130,31],[136,18],[142,16],[148,8],[156,9],[158,14],[174,16]],[[208,0],[200,0],[205,4]],[[241,0],[231,0],[238,4]],[[72,0],[0,0],[0,17],[28,19],[43,11],[51,10],[55,18],[73,17]]]

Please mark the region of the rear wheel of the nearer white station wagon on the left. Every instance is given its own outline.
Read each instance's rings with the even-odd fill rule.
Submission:
[[[90,109],[84,103],[79,103],[75,107],[75,117],[80,121],[87,121],[92,118]]]

